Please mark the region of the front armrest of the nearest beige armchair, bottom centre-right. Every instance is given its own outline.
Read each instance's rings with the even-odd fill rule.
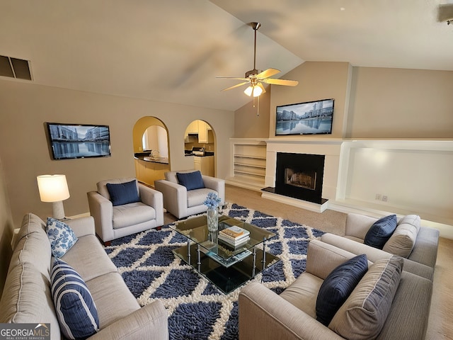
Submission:
[[[251,283],[239,293],[239,339],[343,339],[287,300]]]

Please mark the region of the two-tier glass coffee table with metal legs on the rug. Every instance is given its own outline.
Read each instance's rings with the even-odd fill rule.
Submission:
[[[273,232],[229,216],[219,216],[219,230],[239,226],[250,232],[250,239],[232,246],[219,239],[219,232],[207,229],[206,215],[176,222],[170,228],[187,237],[187,244],[173,254],[210,280],[219,290],[229,293],[280,261],[265,251],[265,243],[275,237]]]

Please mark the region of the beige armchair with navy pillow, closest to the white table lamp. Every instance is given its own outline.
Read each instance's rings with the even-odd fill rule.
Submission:
[[[88,205],[96,234],[104,244],[164,225],[164,200],[159,191],[134,178],[109,179],[96,186],[98,191],[87,193]]]

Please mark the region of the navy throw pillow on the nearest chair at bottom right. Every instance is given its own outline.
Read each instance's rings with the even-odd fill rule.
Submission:
[[[348,299],[357,283],[368,270],[367,255],[357,255],[328,274],[316,298],[316,319],[324,326],[331,323],[333,316]]]

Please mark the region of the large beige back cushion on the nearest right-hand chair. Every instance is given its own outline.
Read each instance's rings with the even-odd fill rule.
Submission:
[[[389,315],[403,263],[397,256],[374,262],[328,328],[345,339],[375,339]]]

